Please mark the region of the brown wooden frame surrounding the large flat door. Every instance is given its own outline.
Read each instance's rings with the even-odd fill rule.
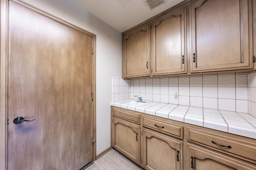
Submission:
[[[34,12],[47,18],[57,21],[63,25],[71,27],[77,31],[85,33],[92,37],[92,114],[93,114],[93,137],[96,138],[96,35],[90,33],[72,23],[57,18],[47,12],[44,12],[34,6],[31,6],[21,0],[10,0],[16,2]],[[8,0],[0,0],[0,170],[7,169],[7,84],[8,84]],[[93,143],[93,156],[96,159],[96,140]]]

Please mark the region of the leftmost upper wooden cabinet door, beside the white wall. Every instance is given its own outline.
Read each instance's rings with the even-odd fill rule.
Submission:
[[[123,78],[150,76],[150,25],[123,35]]]

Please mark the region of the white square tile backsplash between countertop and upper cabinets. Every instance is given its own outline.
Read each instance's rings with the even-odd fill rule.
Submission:
[[[178,98],[174,94],[178,93]],[[256,116],[256,73],[164,78],[112,78],[112,102],[136,99]]]

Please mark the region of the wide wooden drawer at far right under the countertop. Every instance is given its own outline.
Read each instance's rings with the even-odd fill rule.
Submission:
[[[244,156],[256,160],[256,145],[246,142],[246,139],[239,140],[237,135],[228,134],[228,136],[188,128],[188,140],[202,143],[226,152]]]

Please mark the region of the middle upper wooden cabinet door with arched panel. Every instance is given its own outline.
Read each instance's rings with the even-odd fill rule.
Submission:
[[[185,7],[152,23],[152,75],[186,73]]]

